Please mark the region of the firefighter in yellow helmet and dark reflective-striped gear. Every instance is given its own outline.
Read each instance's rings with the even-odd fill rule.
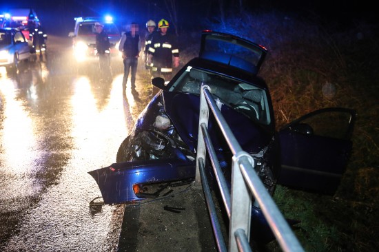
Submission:
[[[169,27],[170,25],[165,19],[158,22],[159,32],[152,36],[147,59],[147,62],[152,65],[153,77],[163,77],[165,81],[170,81],[172,67],[179,66],[178,43],[176,36],[167,33]],[[156,88],[153,87],[153,95],[155,93]]]

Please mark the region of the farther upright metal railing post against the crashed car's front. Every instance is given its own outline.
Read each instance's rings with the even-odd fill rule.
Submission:
[[[198,139],[197,139],[197,153],[196,153],[196,176],[195,176],[195,186],[198,188],[203,187],[201,185],[201,176],[200,169],[198,167],[199,159],[205,162],[205,155],[207,154],[207,148],[205,147],[203,131],[201,130],[201,125],[204,125],[208,128],[208,118],[209,118],[209,107],[207,104],[207,100],[204,95],[204,89],[207,88],[209,90],[209,86],[203,85],[200,91],[200,114],[199,114],[199,122],[198,122]]]

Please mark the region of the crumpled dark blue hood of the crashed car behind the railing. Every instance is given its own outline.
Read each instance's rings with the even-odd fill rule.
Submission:
[[[189,149],[195,150],[198,136],[198,112],[200,109],[200,97],[194,94],[162,92],[163,103],[167,116],[172,120],[178,134],[188,145]],[[268,127],[260,125],[243,114],[236,112],[231,107],[221,105],[221,113],[225,117],[229,127],[234,132],[238,143],[249,153],[258,153],[269,145],[274,132]],[[214,127],[215,120],[209,118],[209,132],[212,140],[221,147],[221,131]]]

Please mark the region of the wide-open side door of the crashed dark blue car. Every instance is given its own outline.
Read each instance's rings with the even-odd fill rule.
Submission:
[[[320,109],[279,131],[282,171],[279,185],[335,193],[351,153],[356,112]]]

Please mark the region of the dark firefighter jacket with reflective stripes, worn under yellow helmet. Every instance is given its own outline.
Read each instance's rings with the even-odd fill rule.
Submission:
[[[176,36],[170,33],[162,35],[161,32],[156,32],[152,37],[149,54],[153,56],[153,71],[172,72],[172,56],[179,56]]]

